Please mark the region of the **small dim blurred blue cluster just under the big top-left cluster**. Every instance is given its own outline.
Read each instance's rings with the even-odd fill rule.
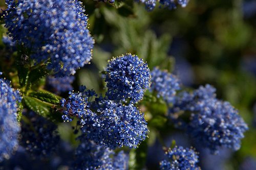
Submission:
[[[48,76],[46,80],[46,86],[48,89],[52,90],[56,94],[61,92],[72,91],[72,83],[74,82],[74,76],[65,76],[65,77],[53,77]]]

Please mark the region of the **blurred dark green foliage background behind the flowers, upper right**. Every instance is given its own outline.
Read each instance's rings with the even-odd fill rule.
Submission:
[[[132,0],[83,4],[96,44],[92,63],[78,71],[75,87],[104,90],[99,72],[108,59],[136,54],[150,68],[172,71],[185,86],[214,85],[219,99],[239,109],[250,129],[223,169],[239,169],[248,157],[256,158],[255,0],[190,0],[185,8],[153,12]]]

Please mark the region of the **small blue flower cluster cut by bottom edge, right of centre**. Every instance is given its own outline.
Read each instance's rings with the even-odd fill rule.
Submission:
[[[162,170],[185,170],[193,169],[199,170],[197,165],[199,162],[198,154],[193,149],[174,147],[165,152],[167,159],[160,162],[160,169]]]

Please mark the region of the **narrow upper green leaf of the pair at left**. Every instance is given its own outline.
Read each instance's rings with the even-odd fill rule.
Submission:
[[[29,96],[39,99],[43,102],[48,102],[48,103],[55,104],[55,105],[59,104],[59,99],[57,98],[57,96],[55,96],[52,93],[33,91],[33,92],[29,93]]]

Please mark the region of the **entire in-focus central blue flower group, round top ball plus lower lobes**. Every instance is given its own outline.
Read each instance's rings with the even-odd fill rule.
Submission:
[[[150,85],[150,70],[137,56],[127,54],[112,59],[106,69],[108,91],[105,98],[82,86],[81,92],[69,92],[60,106],[65,122],[78,118],[83,136],[110,149],[136,148],[147,137],[147,123],[133,102],[143,98]],[[122,104],[126,98],[131,103]]]

